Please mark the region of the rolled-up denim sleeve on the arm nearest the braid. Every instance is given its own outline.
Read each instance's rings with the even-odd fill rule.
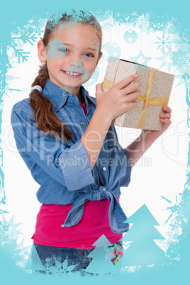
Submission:
[[[18,152],[25,152],[30,160],[25,161],[30,171],[35,161],[50,177],[67,187],[69,191],[94,184],[86,148],[77,141],[71,147],[62,138],[47,135],[37,130],[28,113],[21,109],[11,111],[11,125]]]

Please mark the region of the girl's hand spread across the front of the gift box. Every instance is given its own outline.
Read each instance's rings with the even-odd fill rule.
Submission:
[[[106,92],[102,89],[102,83],[96,84],[96,108],[101,110],[109,120],[112,121],[137,106],[138,102],[133,101],[140,96],[140,91],[135,90],[138,89],[141,83],[133,82],[137,75],[133,74],[126,77]],[[133,83],[130,84],[130,82]],[[130,92],[133,93],[130,94]]]

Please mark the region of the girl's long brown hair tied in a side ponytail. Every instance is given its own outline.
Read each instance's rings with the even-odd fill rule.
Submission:
[[[102,30],[99,22],[96,18],[91,15],[89,12],[79,11],[76,13],[75,10],[72,10],[71,13],[62,13],[61,16],[57,19],[55,15],[47,21],[45,26],[45,31],[43,34],[43,43],[45,47],[47,47],[52,31],[56,29],[58,23],[62,23],[65,21],[74,21],[81,23],[88,23],[93,26],[99,32],[100,38],[100,47],[99,47],[99,55],[101,55],[101,42],[102,42]],[[47,63],[45,65],[41,65],[38,71],[38,76],[35,77],[35,80],[31,86],[40,85],[42,88],[45,86],[45,82],[49,78]],[[68,140],[72,139],[72,132],[67,128],[67,125],[64,125],[59,118],[57,118],[55,112],[52,110],[52,102],[46,96],[34,89],[30,94],[30,106],[33,108],[35,114],[35,123],[36,128],[40,132],[40,130],[44,131],[47,135],[54,135],[55,138],[60,137],[62,135],[63,141],[65,143],[65,138]]]

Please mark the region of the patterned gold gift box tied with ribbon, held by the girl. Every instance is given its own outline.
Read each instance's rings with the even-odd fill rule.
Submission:
[[[137,99],[138,105],[118,116],[111,123],[127,128],[162,130],[160,113],[164,112],[162,106],[168,105],[174,74],[161,72],[158,69],[128,60],[110,57],[102,87],[104,91],[108,91],[125,77],[135,73],[138,74],[138,78],[133,82],[140,81],[142,83],[137,89],[140,91],[140,96]]]

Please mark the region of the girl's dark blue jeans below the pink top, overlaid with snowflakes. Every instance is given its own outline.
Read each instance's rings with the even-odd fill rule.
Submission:
[[[47,245],[36,244],[34,246],[37,254],[33,250],[31,257],[33,271],[42,274],[68,274],[70,272],[80,272],[82,275],[84,275],[86,274],[86,267],[88,267],[93,259],[88,257],[88,255],[90,256],[90,252],[95,249],[50,247]],[[123,255],[123,245],[121,241],[102,248],[105,250],[105,254],[108,252],[114,253],[115,257],[111,259],[113,264],[116,264],[117,260],[119,260]],[[92,273],[88,272],[87,274]]]

